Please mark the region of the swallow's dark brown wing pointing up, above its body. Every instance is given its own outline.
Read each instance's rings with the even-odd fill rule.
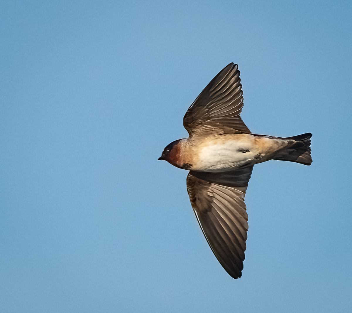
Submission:
[[[240,118],[243,91],[238,65],[230,63],[194,100],[183,117],[190,136],[251,134]]]

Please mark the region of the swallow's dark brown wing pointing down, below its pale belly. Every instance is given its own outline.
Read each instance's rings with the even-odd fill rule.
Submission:
[[[248,230],[244,196],[253,166],[223,173],[190,171],[187,191],[215,257],[233,278],[242,276]]]

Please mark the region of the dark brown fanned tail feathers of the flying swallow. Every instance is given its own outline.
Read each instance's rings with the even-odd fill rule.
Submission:
[[[312,137],[311,133],[281,138],[294,140],[295,143],[292,146],[279,150],[274,160],[291,161],[304,165],[312,164],[312,157],[310,156],[310,137]]]

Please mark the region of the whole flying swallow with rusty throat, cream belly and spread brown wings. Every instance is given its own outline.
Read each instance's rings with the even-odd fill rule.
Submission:
[[[204,88],[183,117],[189,137],[171,142],[158,160],[188,170],[196,219],[222,267],[242,276],[248,231],[245,192],[255,164],[268,160],[312,164],[311,133],[293,137],[252,134],[240,117],[243,91],[230,63]]]

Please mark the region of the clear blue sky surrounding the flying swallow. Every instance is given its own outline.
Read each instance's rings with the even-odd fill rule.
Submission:
[[[0,4],[0,311],[352,310],[351,1]],[[254,167],[242,278],[157,161],[239,64],[253,133],[312,132]]]

